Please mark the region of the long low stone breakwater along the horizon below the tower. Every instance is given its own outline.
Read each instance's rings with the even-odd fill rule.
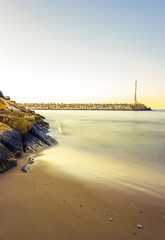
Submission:
[[[19,103],[19,106],[31,110],[105,110],[105,111],[151,111],[142,103]]]

